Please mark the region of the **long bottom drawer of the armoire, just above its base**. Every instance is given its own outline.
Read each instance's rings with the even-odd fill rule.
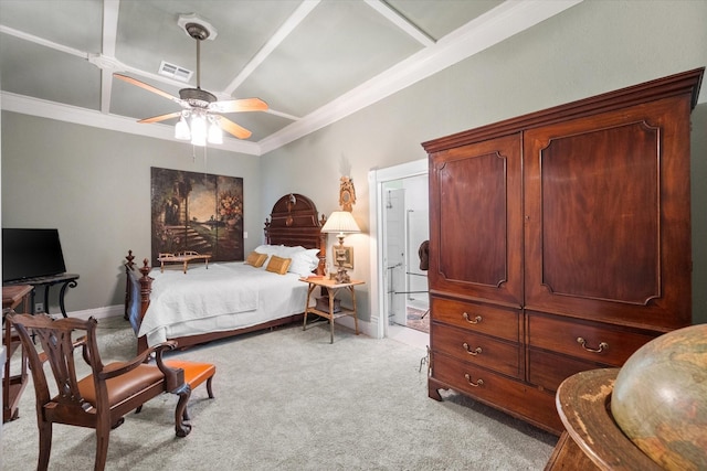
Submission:
[[[453,388],[553,433],[563,430],[553,393],[442,353],[433,353],[429,386]]]

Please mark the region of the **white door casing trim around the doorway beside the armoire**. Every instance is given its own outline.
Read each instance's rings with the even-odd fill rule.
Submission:
[[[383,195],[383,183],[392,180],[401,180],[409,176],[428,174],[428,159],[413,160],[400,165],[388,167],[386,169],[373,169],[368,172],[369,189],[369,224],[370,224],[370,266],[371,278],[371,323],[376,324],[376,338],[386,336],[386,313],[384,310],[384,283],[381,282],[384,276],[386,266],[382,256],[383,239],[383,212],[386,199]]]

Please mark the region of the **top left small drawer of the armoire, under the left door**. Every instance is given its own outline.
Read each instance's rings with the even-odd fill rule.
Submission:
[[[519,341],[519,311],[443,298],[431,298],[432,320],[474,332]]]

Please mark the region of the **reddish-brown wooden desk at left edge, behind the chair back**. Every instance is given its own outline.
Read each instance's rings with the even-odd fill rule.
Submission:
[[[7,350],[7,358],[3,365],[4,376],[2,378],[2,421],[14,420],[19,417],[20,396],[27,386],[28,381],[28,358],[20,338],[13,333],[10,322],[6,322],[6,314],[14,312],[14,308],[22,304],[20,312],[29,312],[28,296],[33,292],[30,285],[14,285],[2,287],[2,323],[4,332],[2,344]],[[20,371],[14,376],[10,372],[12,355],[20,350]]]

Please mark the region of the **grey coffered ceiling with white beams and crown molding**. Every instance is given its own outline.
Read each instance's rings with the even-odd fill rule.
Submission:
[[[230,150],[262,154],[517,34],[580,0],[0,0],[2,108],[173,139],[178,96],[197,85],[197,46],[180,15],[213,32],[201,88],[258,97],[265,113],[229,114],[253,131]],[[159,74],[162,62],[193,72]]]

